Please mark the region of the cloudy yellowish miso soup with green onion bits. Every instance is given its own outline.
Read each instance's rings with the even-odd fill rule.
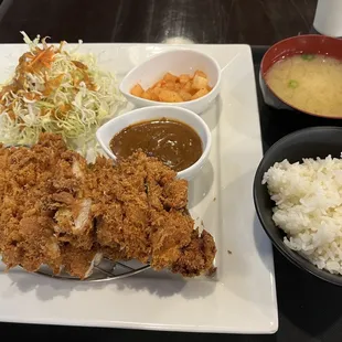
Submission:
[[[266,83],[289,105],[321,116],[342,117],[342,62],[325,55],[295,55],[275,63]]]

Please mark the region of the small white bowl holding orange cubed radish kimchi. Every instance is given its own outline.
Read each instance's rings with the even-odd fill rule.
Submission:
[[[140,98],[130,94],[131,88],[139,83],[143,89],[151,87],[161,79],[168,72],[177,76],[181,74],[193,75],[196,70],[207,75],[212,90],[190,101],[182,103],[160,103]],[[204,111],[220,93],[221,68],[215,60],[204,53],[193,50],[173,50],[160,53],[150,60],[132,68],[120,83],[120,92],[137,107],[146,106],[170,106],[190,109],[196,114]]]

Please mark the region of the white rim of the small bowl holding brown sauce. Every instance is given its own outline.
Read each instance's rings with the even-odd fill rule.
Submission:
[[[205,121],[189,109],[170,106],[154,106],[135,109],[118,116],[99,127],[96,131],[96,138],[106,154],[116,160],[117,158],[109,147],[110,140],[116,133],[127,126],[161,118],[173,119],[186,124],[196,131],[202,140],[203,153],[201,158],[194,164],[178,172],[177,174],[178,178],[190,181],[202,169],[209,158],[212,145],[212,135]]]

